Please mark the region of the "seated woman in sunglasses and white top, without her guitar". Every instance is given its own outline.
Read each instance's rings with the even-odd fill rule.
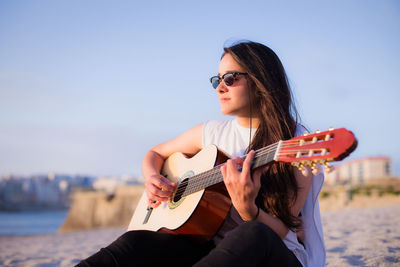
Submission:
[[[282,163],[251,171],[254,150],[299,135],[297,113],[276,54],[255,42],[228,48],[211,79],[221,112],[209,121],[152,148],[144,157],[148,205],[157,208],[177,187],[160,174],[174,152],[195,155],[215,144],[233,156],[221,167],[232,208],[207,243],[185,236],[130,231],[82,261],[82,266],[124,264],[178,266],[323,266],[325,249],[317,196],[323,177]],[[243,161],[239,156],[248,152]],[[296,234],[297,233],[297,234]]]

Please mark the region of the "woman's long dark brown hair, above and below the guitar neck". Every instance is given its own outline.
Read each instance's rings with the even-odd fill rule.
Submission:
[[[249,41],[224,48],[224,55],[226,53],[248,73],[250,113],[260,119],[248,150],[292,138],[298,113],[278,56],[269,47]],[[290,212],[297,198],[297,190],[293,169],[283,163],[274,164],[261,177],[256,204],[294,230],[301,227],[301,220]]]

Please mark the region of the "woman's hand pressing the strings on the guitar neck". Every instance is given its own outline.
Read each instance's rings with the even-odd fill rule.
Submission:
[[[221,167],[232,204],[244,221],[256,219],[258,208],[255,200],[261,186],[261,174],[266,170],[265,167],[260,167],[251,173],[254,155],[254,150],[251,150],[244,161],[240,158],[229,159]],[[239,166],[242,167],[241,171]]]

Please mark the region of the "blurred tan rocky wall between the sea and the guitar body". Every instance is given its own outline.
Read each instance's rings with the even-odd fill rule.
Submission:
[[[60,232],[105,227],[127,227],[144,186],[118,187],[113,195],[76,192]]]

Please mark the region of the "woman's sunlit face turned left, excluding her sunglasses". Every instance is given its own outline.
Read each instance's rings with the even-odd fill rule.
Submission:
[[[227,72],[244,72],[243,68],[230,54],[225,54],[219,63],[218,76]],[[237,75],[237,79],[231,86],[227,86],[223,80],[216,88],[218,99],[221,103],[221,112],[224,115],[236,117],[249,116],[249,92],[245,75]]]

